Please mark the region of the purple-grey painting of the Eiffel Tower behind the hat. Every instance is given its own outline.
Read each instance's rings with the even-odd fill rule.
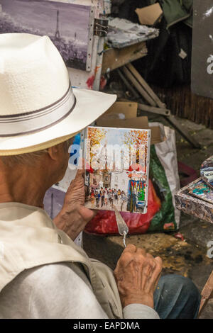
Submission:
[[[91,6],[45,0],[0,0],[0,33],[48,35],[68,67],[86,70],[87,59],[91,60],[90,15]]]

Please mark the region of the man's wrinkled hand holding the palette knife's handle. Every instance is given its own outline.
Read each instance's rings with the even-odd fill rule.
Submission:
[[[144,249],[128,245],[114,270],[122,306],[140,303],[154,307],[153,294],[161,270],[159,256],[153,258]]]

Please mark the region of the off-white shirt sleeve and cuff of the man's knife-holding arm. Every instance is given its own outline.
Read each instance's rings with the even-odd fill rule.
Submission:
[[[129,305],[124,318],[156,318],[143,305]],[[0,294],[0,318],[108,319],[92,288],[75,264],[48,264],[20,273]]]

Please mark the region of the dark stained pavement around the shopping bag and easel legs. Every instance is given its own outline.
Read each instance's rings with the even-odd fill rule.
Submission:
[[[168,125],[163,117],[148,115],[149,120],[160,121]],[[190,131],[201,149],[194,149],[176,132],[178,161],[197,170],[199,175],[200,164],[213,155],[213,130],[204,125],[197,125],[190,120],[180,119],[182,125]],[[163,274],[178,273],[194,281],[201,291],[213,269],[213,258],[207,257],[207,242],[213,241],[213,224],[204,222],[190,215],[182,213],[180,233],[185,241],[174,237],[174,233],[148,233],[127,237],[127,244],[135,244],[148,250],[153,256],[163,259]],[[119,236],[95,236],[84,233],[84,249],[89,256],[99,259],[114,269],[116,262],[124,249],[122,238]],[[212,251],[213,254],[213,251]],[[213,317],[213,300],[209,301],[202,313],[202,318]]]

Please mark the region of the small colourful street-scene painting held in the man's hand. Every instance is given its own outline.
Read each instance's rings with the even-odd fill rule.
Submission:
[[[89,127],[86,137],[86,207],[146,213],[150,130]]]

